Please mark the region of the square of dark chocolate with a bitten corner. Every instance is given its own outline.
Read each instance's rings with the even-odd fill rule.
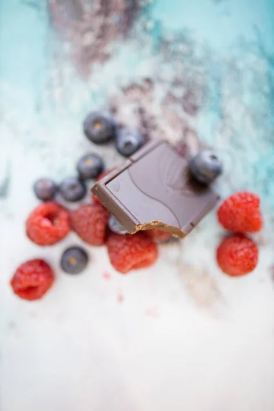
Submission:
[[[192,179],[188,162],[162,140],[142,147],[91,190],[130,234],[159,228],[181,238],[219,198]]]

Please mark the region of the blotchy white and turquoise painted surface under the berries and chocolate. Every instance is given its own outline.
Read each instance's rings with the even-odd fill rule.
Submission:
[[[272,0],[0,0],[1,411],[273,411],[273,22]],[[217,269],[214,213],[128,277],[105,249],[67,277],[73,234],[54,249],[25,238],[37,177],[75,173],[88,150],[121,160],[82,135],[101,106],[186,154],[214,147],[221,194],[258,192],[256,271]],[[8,280],[36,256],[58,279],[25,303]]]

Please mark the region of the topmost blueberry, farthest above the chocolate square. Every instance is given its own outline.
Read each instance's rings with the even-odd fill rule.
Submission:
[[[103,144],[114,138],[115,121],[111,114],[91,112],[84,120],[84,134],[95,144]]]

